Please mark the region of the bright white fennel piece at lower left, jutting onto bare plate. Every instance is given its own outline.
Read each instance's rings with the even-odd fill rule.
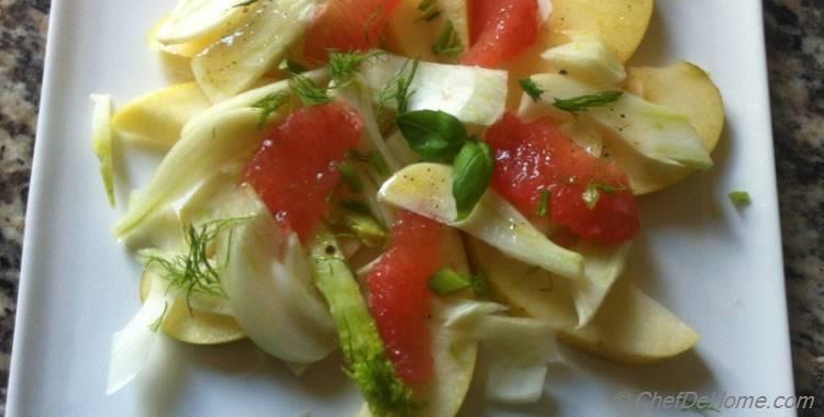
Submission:
[[[174,302],[174,297],[166,293],[165,285],[153,284],[137,314],[112,336],[107,395],[118,392],[141,372],[157,340],[157,330]]]

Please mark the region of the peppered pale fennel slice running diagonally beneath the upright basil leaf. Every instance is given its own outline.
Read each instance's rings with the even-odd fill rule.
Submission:
[[[523,262],[570,279],[582,275],[580,255],[555,245],[494,190],[487,190],[467,218],[456,221],[452,170],[438,164],[411,165],[383,183],[378,199],[457,227]]]

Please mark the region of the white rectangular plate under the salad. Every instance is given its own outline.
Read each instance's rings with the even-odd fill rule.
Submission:
[[[107,205],[91,151],[89,93],[110,92],[122,104],[167,82],[146,32],[172,3],[53,1],[9,416],[353,416],[360,399],[339,358],[297,379],[248,343],[166,340],[153,352],[154,371],[104,395],[111,335],[137,309],[140,270],[109,232],[119,214]],[[703,335],[697,350],[642,368],[565,350],[568,363],[550,369],[537,406],[489,406],[474,386],[464,415],[684,416],[643,401],[623,412],[614,398],[624,391],[793,394],[761,22],[760,1],[659,0],[636,58],[697,63],[726,102],[716,167],[642,199],[645,232],[628,271]],[[132,187],[148,172],[129,168]],[[726,198],[738,189],[753,196],[742,211]]]

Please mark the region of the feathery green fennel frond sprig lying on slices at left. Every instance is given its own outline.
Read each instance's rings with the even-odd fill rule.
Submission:
[[[218,264],[210,259],[210,250],[221,232],[246,219],[248,217],[214,219],[199,227],[190,224],[185,228],[187,252],[169,256],[152,251],[145,253],[144,263],[147,269],[152,266],[159,268],[158,274],[166,280],[169,289],[174,288],[186,294],[186,304],[189,314],[192,314],[191,297],[196,293],[226,297],[220,281],[220,269],[229,259]],[[232,239],[231,230],[229,238]]]

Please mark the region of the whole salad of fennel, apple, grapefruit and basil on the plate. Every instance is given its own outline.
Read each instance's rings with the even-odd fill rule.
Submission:
[[[700,67],[627,67],[653,0],[180,0],[148,30],[190,81],[93,149],[142,307],[108,393],[165,334],[248,338],[300,377],[339,349],[363,416],[537,402],[561,342],[645,363],[699,335],[623,274],[638,201],[711,169]],[[171,59],[174,57],[174,59]],[[115,201],[113,142],[159,149]]]

